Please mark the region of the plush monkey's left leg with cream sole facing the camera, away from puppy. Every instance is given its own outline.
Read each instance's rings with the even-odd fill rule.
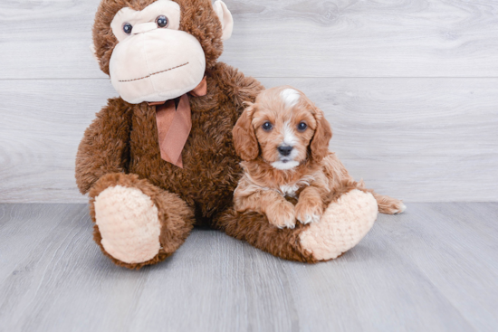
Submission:
[[[93,239],[114,263],[129,269],[165,260],[194,225],[184,201],[138,175],[104,175],[89,195]]]

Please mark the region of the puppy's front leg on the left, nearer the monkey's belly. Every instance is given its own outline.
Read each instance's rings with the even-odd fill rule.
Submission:
[[[296,225],[294,205],[272,190],[258,191],[244,198],[235,196],[235,210],[266,214],[268,222],[278,228],[294,228]]]

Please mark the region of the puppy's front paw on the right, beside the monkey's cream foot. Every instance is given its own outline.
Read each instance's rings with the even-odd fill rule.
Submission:
[[[315,223],[321,219],[323,214],[323,203],[321,201],[321,190],[315,186],[307,186],[299,195],[299,201],[295,207],[296,218],[301,223]]]

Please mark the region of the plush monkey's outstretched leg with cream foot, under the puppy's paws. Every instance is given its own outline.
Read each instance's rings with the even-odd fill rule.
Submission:
[[[337,258],[358,244],[377,219],[378,205],[370,193],[358,189],[336,197],[316,223],[296,223],[279,229],[265,216],[230,209],[216,221],[228,235],[274,256],[291,261],[317,262]]]

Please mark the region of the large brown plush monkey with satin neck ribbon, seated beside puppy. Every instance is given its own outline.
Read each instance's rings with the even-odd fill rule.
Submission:
[[[244,101],[254,102],[263,86],[216,62],[232,26],[219,0],[99,6],[94,52],[120,98],[110,99],[85,131],[76,180],[90,195],[95,242],[120,266],[163,261],[194,224],[284,259],[324,261],[356,245],[375,221],[371,194],[346,187],[320,223],[295,229],[235,213],[242,172],[232,129]]]

